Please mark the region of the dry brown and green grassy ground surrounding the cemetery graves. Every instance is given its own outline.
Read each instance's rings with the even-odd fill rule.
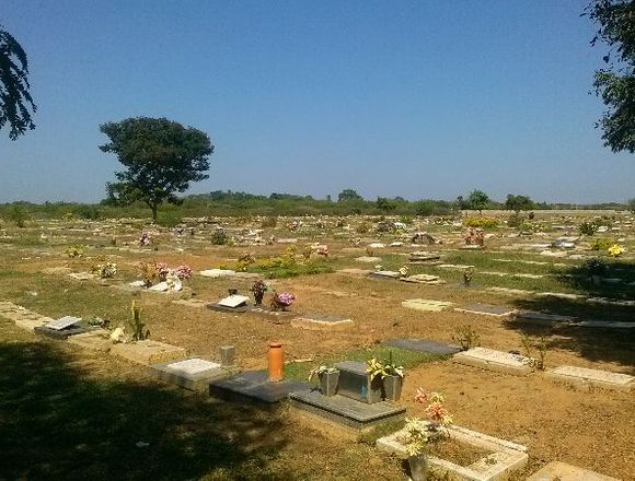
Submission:
[[[266,369],[268,343],[280,341],[286,375],[302,380],[316,365],[366,361],[390,350],[406,368],[400,402],[409,415],[422,414],[413,399],[423,386],[444,394],[457,425],[528,447],[529,464],[512,479],[526,479],[555,460],[635,479],[631,391],[582,389],[554,383],[540,371],[515,376],[382,345],[392,339],[457,343],[453,337],[469,325],[482,347],[506,352],[524,352],[526,336],[531,342],[543,337],[547,368],[572,365],[635,375],[635,329],[522,322],[454,310],[486,304],[580,320],[635,321],[635,306],[615,302],[635,300],[633,218],[599,213],[607,232],[579,236],[577,226],[597,214],[540,212],[541,230],[532,233],[501,223],[486,230],[490,235],[482,250],[462,249],[465,227],[460,222],[435,219],[411,221],[407,232],[377,232],[380,220],[361,216],[344,222],[278,218],[268,227],[263,224],[272,223],[257,216],[189,219],[178,231],[140,220],[39,220],[24,228],[3,224],[0,302],[51,318],[101,317],[116,327],[129,318],[135,300],[152,340],[209,359],[218,356],[220,345],[232,344],[243,369]],[[219,227],[233,245],[212,245]],[[256,230],[262,232],[254,235]],[[145,231],[152,243],[139,246]],[[413,246],[411,235],[417,231],[442,244]],[[267,244],[270,236],[276,241]],[[575,247],[551,247],[561,236],[577,237]],[[609,237],[619,237],[625,253],[607,259],[611,282],[594,285],[581,266],[589,258],[607,257],[590,246]],[[328,257],[302,255],[315,242],[328,245]],[[391,246],[395,242],[403,244]],[[369,247],[373,243],[383,247]],[[69,257],[72,246],[81,246],[82,255]],[[290,246],[296,246],[295,254]],[[439,259],[408,263],[415,250]],[[235,269],[244,254],[256,260],[246,266],[247,272],[262,274],[270,290],[293,293],[292,312],[343,316],[353,326],[309,330],[266,316],[208,309],[206,303],[224,297],[230,288],[250,295],[253,279],[213,279],[199,271]],[[262,267],[262,260],[285,255],[293,256],[297,265]],[[68,275],[106,261],[117,265],[112,279]],[[176,294],[125,288],[140,279],[140,262],[154,261],[186,263],[194,275]],[[407,266],[409,275],[438,275],[444,283],[376,280],[360,271],[378,265],[390,271]],[[463,283],[466,266],[473,267],[469,288]],[[270,291],[265,302],[269,296]],[[413,298],[452,305],[440,312],[402,306]],[[142,366],[44,339],[2,317],[0,365],[0,479],[405,479],[402,461],[373,446],[388,432],[351,438],[295,417],[286,403],[264,410],[185,391],[154,380]]]

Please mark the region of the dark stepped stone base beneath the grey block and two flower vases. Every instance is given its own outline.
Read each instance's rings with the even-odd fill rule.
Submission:
[[[296,409],[356,431],[399,421],[405,417],[406,412],[405,407],[394,402],[382,401],[367,404],[339,395],[324,396],[316,389],[291,392],[289,398],[291,406]]]

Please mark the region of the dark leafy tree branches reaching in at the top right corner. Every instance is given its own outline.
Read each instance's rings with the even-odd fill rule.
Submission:
[[[613,152],[635,152],[635,0],[593,0],[585,15],[598,26],[591,45],[609,47],[593,87],[608,107],[597,126]]]

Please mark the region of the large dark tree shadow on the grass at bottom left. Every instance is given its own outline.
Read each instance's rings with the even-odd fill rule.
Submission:
[[[0,343],[0,480],[293,478],[267,474],[286,445],[279,413],[89,378],[73,361],[49,343]]]

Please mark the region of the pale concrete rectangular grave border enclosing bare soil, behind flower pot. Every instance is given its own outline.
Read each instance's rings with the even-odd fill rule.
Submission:
[[[460,426],[449,426],[450,437],[466,445],[490,451],[487,456],[470,466],[459,466],[435,456],[428,457],[430,468],[441,477],[469,481],[503,481],[521,470],[529,459],[527,447],[505,439],[488,436]],[[406,449],[401,442],[405,431],[380,437],[377,448],[406,458]]]

